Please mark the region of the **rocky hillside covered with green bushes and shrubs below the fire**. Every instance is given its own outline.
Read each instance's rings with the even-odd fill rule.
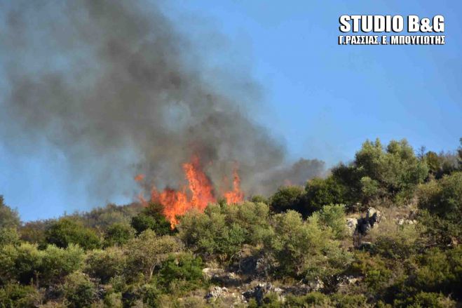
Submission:
[[[462,140],[461,140],[462,142]],[[1,307],[456,307],[462,143],[367,141],[304,187],[190,210],[20,222],[0,199]]]

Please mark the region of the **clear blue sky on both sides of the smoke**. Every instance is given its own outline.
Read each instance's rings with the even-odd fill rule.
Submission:
[[[285,141],[292,159],[351,159],[367,138],[407,138],[453,150],[462,137],[462,3],[459,1],[168,1],[165,13],[192,40],[222,35],[210,67],[250,74],[264,100],[255,120]],[[338,46],[340,15],[444,15],[445,46]],[[201,43],[202,41],[202,43]],[[209,54],[210,53],[210,54]],[[23,220],[86,210],[53,149],[14,156],[0,142],[0,194]],[[64,205],[65,204],[65,205]]]

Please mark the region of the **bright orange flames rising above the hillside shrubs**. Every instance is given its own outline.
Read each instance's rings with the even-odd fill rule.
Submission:
[[[161,203],[163,214],[170,221],[172,228],[177,225],[177,217],[184,215],[188,210],[196,208],[203,212],[209,203],[215,203],[213,185],[208,176],[201,168],[198,156],[193,156],[190,162],[183,164],[184,178],[187,180],[187,187],[180,190],[165,188],[159,192],[156,187],[151,190],[151,202]],[[144,175],[135,176],[135,180],[144,180]],[[244,194],[240,190],[240,178],[237,168],[233,170],[233,189],[223,194],[226,203],[235,204],[244,200]],[[140,202],[147,204],[144,196],[139,196]]]

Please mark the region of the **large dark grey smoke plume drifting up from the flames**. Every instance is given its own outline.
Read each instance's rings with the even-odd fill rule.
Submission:
[[[232,93],[212,86],[200,53],[161,4],[2,6],[2,141],[18,151],[33,151],[43,140],[60,149],[90,194],[109,198],[137,173],[175,187],[193,154],[215,183],[231,176],[237,161],[247,194],[322,173],[320,161],[285,166],[285,147],[245,107],[261,99],[258,85],[245,80]],[[214,85],[227,82],[217,78]]]

